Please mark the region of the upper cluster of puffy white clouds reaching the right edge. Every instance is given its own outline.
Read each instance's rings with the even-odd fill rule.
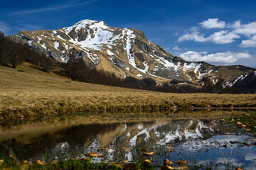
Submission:
[[[242,40],[240,47],[256,47],[255,35],[256,35],[256,21],[242,24],[241,21],[235,21],[234,23],[225,23],[225,21],[219,21],[218,18],[209,18],[206,21],[198,23],[202,28],[223,28],[218,32],[211,35],[205,35],[200,33],[199,27],[193,27],[187,31],[186,34],[178,38],[178,42],[185,40],[193,40],[195,42],[215,42],[216,44],[228,44],[234,42],[235,39],[241,38],[241,35],[250,38],[248,40]]]

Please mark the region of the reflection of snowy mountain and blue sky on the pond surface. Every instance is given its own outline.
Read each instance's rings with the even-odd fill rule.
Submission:
[[[0,137],[1,138],[1,137]],[[103,154],[95,162],[137,162],[142,154],[139,148],[154,152],[152,160],[161,164],[163,159],[193,159],[198,163],[215,162],[242,164],[255,167],[255,146],[243,147],[247,135],[218,120],[182,119],[154,120],[142,123],[111,123],[73,125],[60,130],[33,137],[26,134],[1,143],[1,154],[8,154],[11,148],[18,159],[43,162],[87,157],[90,152]],[[230,141],[235,144],[230,145]],[[227,148],[223,145],[228,145]],[[8,146],[8,147],[6,147]],[[169,153],[166,146],[174,147]],[[127,147],[130,151],[122,149]],[[107,149],[102,149],[107,148]],[[227,154],[227,152],[239,152]],[[225,158],[225,159],[224,159]]]

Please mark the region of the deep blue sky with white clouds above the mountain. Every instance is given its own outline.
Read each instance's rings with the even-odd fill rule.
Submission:
[[[83,19],[142,30],[185,60],[256,67],[256,1],[1,1],[0,30],[55,30]]]

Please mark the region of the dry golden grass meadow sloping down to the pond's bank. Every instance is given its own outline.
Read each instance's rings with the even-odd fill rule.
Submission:
[[[256,94],[165,94],[71,81],[30,64],[0,66],[0,117],[14,119],[78,111],[255,108]]]

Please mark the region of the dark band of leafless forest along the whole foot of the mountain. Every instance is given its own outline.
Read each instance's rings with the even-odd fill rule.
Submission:
[[[247,89],[244,84],[238,86],[223,87],[223,80],[219,80],[216,84],[205,80],[204,86],[196,88],[195,84],[187,82],[181,84],[176,80],[169,81],[163,84],[156,84],[156,81],[151,78],[136,79],[134,77],[126,77],[120,79],[115,74],[97,70],[84,62],[82,58],[75,55],[70,55],[67,63],[61,63],[32,50],[26,44],[15,42],[10,38],[5,37],[4,33],[0,31],[0,64],[16,68],[18,64],[29,62],[35,66],[41,67],[44,72],[55,72],[61,76],[69,77],[70,79],[92,83],[103,84],[109,86],[121,86],[133,89],[144,89],[150,91],[161,91],[166,93],[214,93],[214,94],[241,94],[241,93],[255,93],[255,89]],[[55,71],[55,67],[62,68],[63,71]],[[256,84],[256,82],[255,82]]]

